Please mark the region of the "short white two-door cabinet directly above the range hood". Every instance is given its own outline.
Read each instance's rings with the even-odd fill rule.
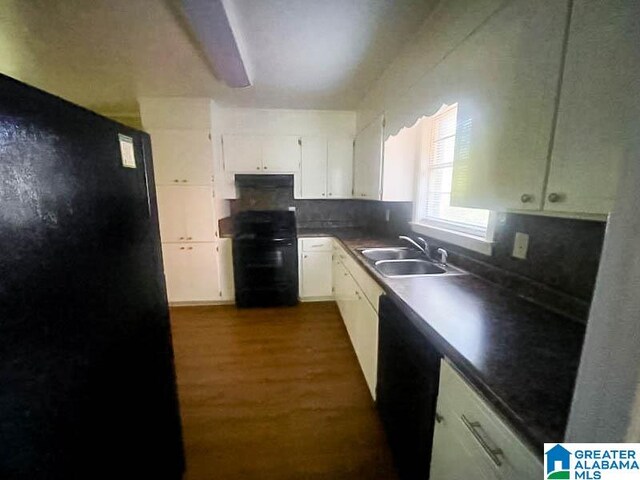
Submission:
[[[224,169],[233,173],[295,173],[300,169],[296,135],[223,135]]]

